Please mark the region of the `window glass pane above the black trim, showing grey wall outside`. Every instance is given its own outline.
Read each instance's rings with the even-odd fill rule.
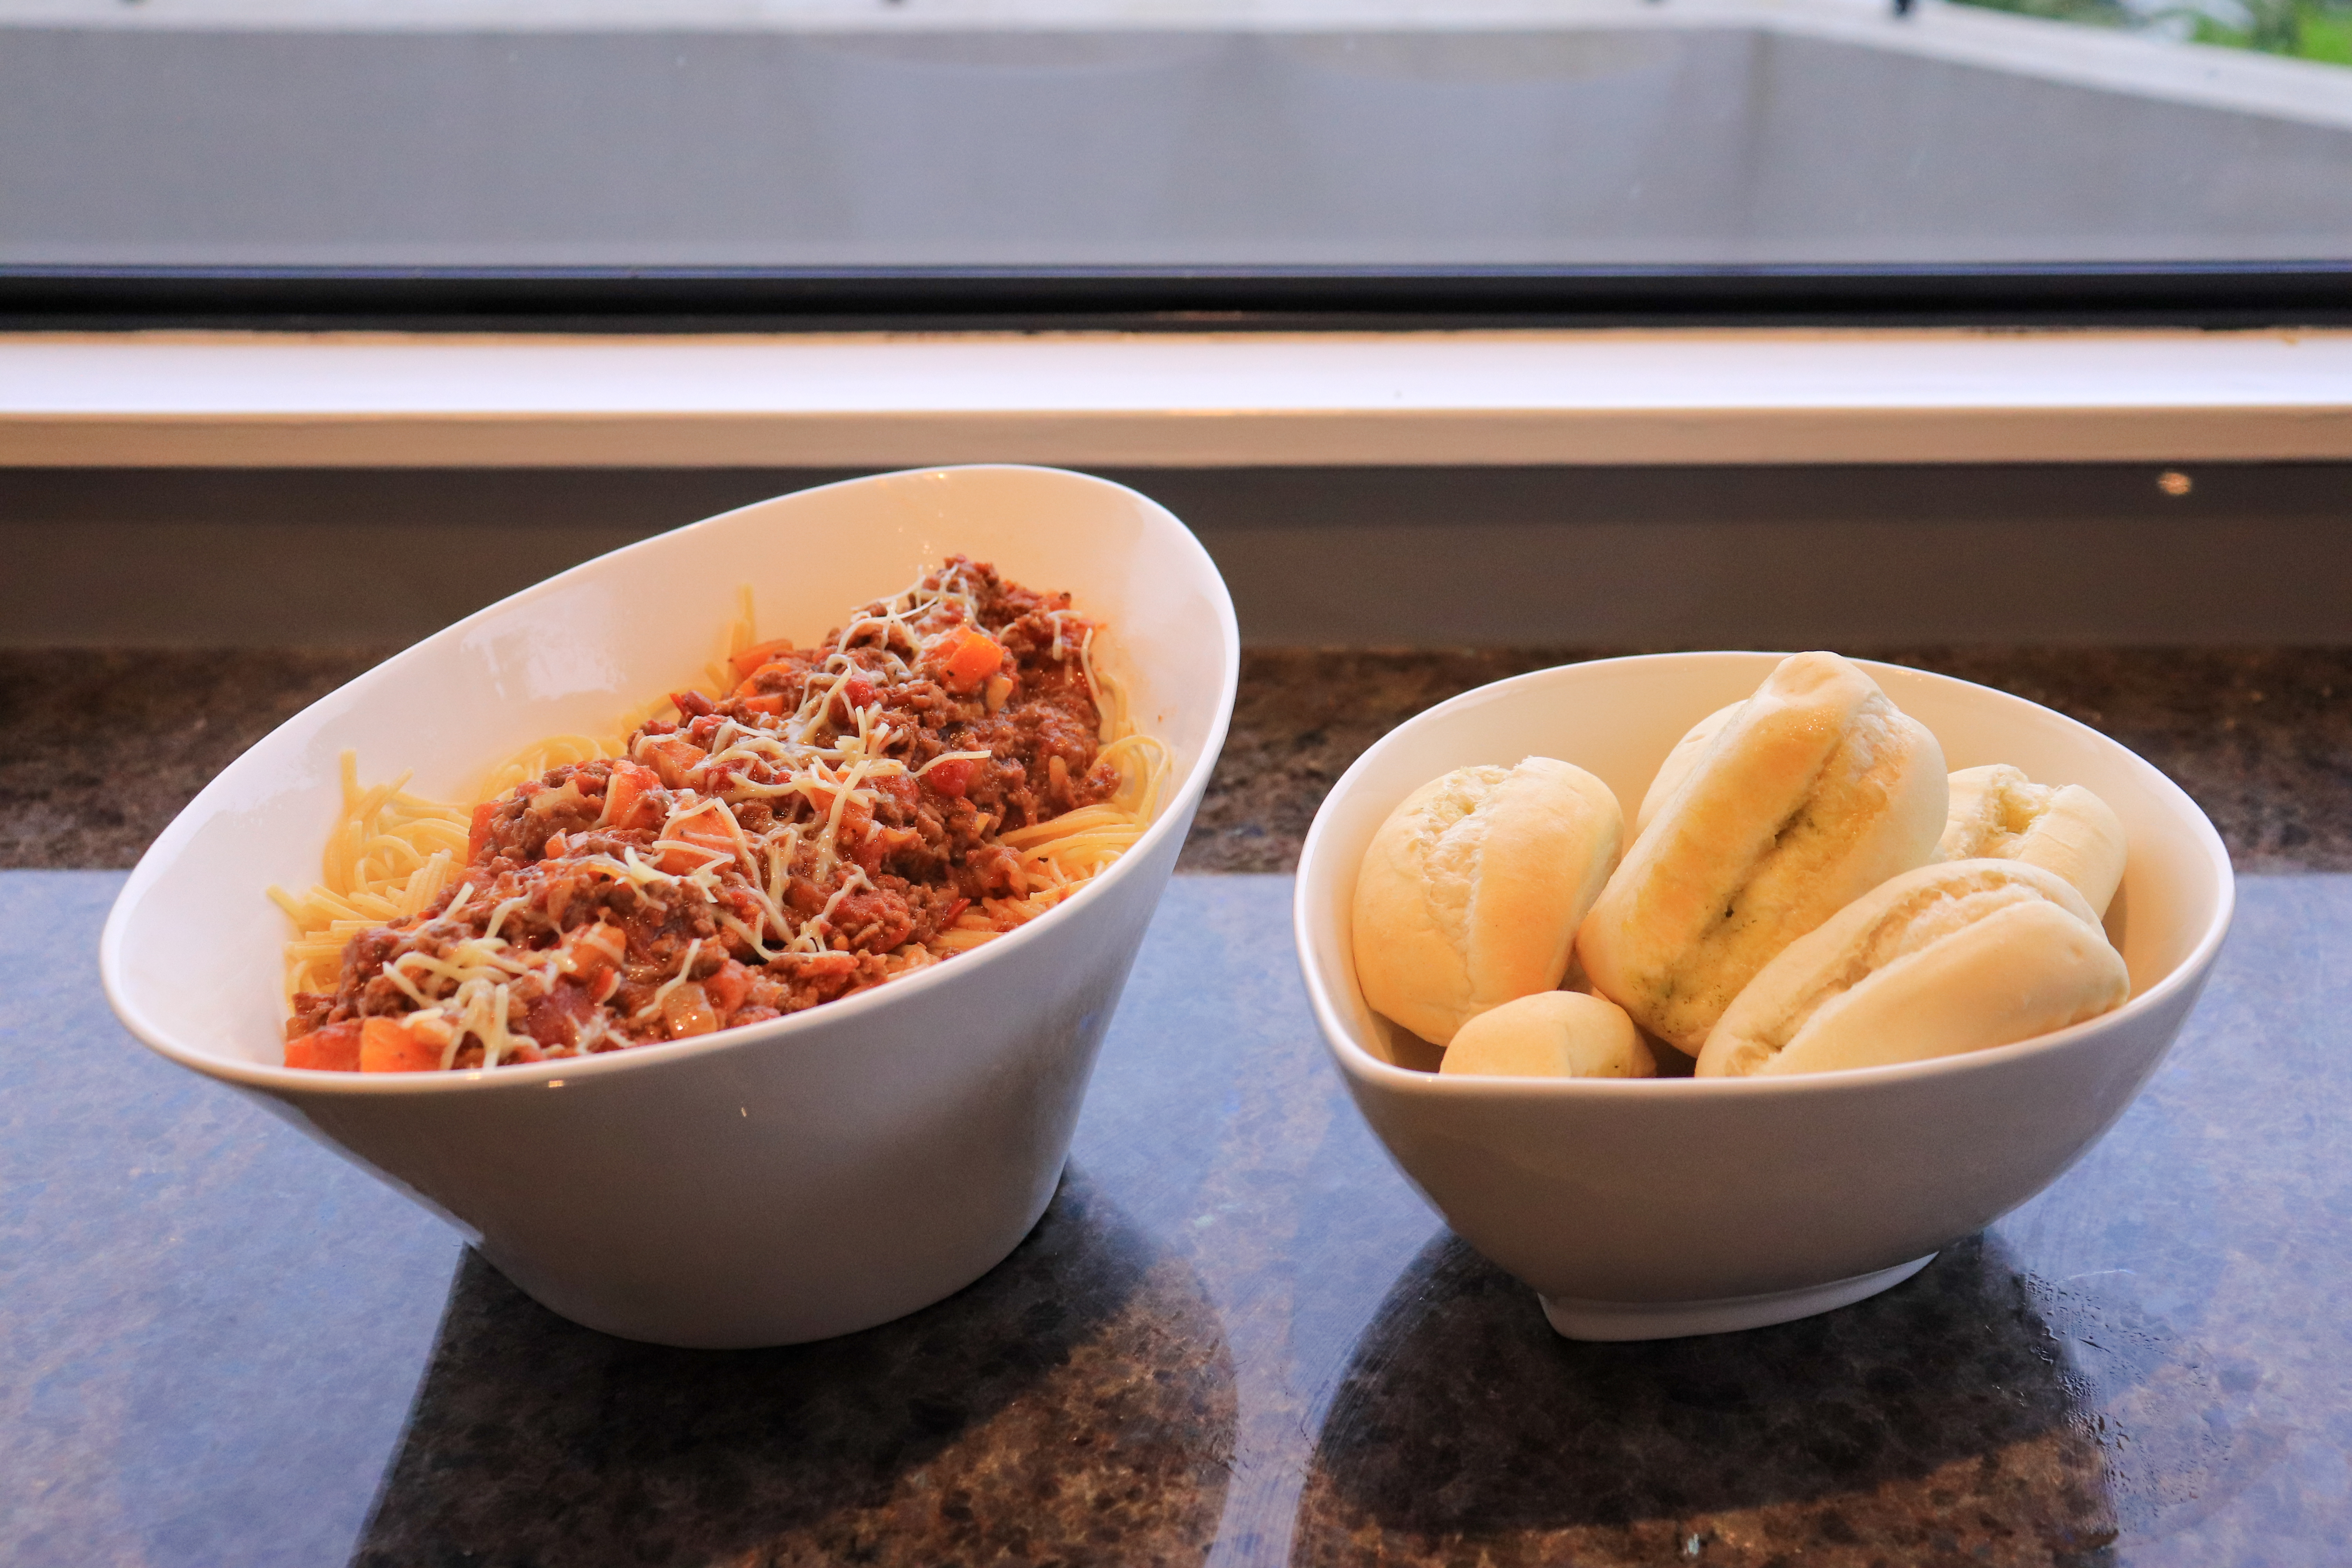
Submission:
[[[602,26],[621,14],[586,0],[19,0],[0,263],[2352,259],[2352,71],[2185,42],[2343,54],[2352,9],[2194,2],[2013,0],[2098,28],[1938,0],[1519,5],[1508,26],[1056,5],[976,28],[920,0],[734,26]]]

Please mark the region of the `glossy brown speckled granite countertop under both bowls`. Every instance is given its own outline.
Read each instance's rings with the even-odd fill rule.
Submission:
[[[2347,1561],[2352,656],[1898,656],[2117,733],[2241,870],[2143,1098],[1917,1279],[1571,1345],[1449,1237],[1324,1060],[1284,872],[1364,743],[1559,654],[1270,651],[1040,1227],[715,1354],[555,1319],[106,1013],[115,867],[372,654],[0,654],[0,1559]]]

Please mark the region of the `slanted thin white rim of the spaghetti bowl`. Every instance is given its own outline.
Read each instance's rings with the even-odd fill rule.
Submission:
[[[372,686],[386,679],[395,679],[393,670],[412,658],[419,658],[423,649],[461,639],[477,623],[492,616],[510,614],[520,604],[546,597],[555,592],[560,583],[579,574],[586,574],[590,569],[609,571],[607,562],[635,555],[640,550],[649,550],[654,545],[663,545],[666,541],[673,541],[680,534],[691,534],[696,529],[715,527],[729,517],[736,517],[739,512],[757,510],[797,496],[816,496],[823,491],[877,489],[884,484],[903,484],[908,480],[929,480],[943,475],[1002,475],[1002,473],[1049,475],[1049,480],[1056,484],[1075,482],[1080,489],[1101,489],[1105,494],[1127,496],[1143,508],[1143,517],[1152,520],[1155,527],[1169,529],[1174,536],[1171,541],[1174,548],[1178,552],[1190,550],[1190,555],[1197,557],[1197,564],[1207,569],[1207,581],[1216,588],[1214,609],[1216,609],[1216,632],[1218,632],[1218,663],[1223,668],[1221,689],[1216,696],[1216,712],[1211,715],[1209,731],[1202,738],[1202,750],[1192,759],[1190,771],[1181,780],[1174,780],[1174,785],[1169,788],[1167,797],[1162,799],[1160,816],[1152,820],[1150,827],[1143,830],[1143,837],[1138,837],[1127,853],[1122,853],[1103,872],[1091,877],[1084,889],[1080,889],[1070,898],[1063,898],[1058,905],[1054,905],[1037,919],[1016,926],[1014,931],[1007,931],[997,940],[985,943],[974,952],[957,954],[953,966],[946,961],[931,964],[913,976],[891,980],[889,985],[875,985],[851,997],[840,997],[821,1006],[802,1009],[800,1013],[786,1013],[783,1018],[769,1018],[734,1030],[717,1030],[713,1034],[701,1034],[694,1039],[654,1041],[647,1046],[630,1046],[626,1051],[607,1051],[600,1056],[555,1058],[546,1063],[513,1063],[501,1067],[470,1067],[466,1072],[329,1072],[322,1067],[285,1067],[285,1065],[221,1058],[209,1051],[181,1044],[174,1037],[172,1027],[167,1027],[158,1018],[151,1018],[141,1006],[136,1006],[125,994],[122,971],[127,966],[127,952],[125,952],[127,926],[139,905],[139,898],[155,882],[155,877],[162,875],[162,865],[179,853],[181,844],[191,839],[202,827],[205,820],[209,820],[212,816],[209,802],[221,790],[221,780],[252,752],[261,750],[280,733],[303,724],[320,705],[341,698],[346,691],[353,691],[355,686]],[[1232,609],[1232,590],[1225,588],[1225,578],[1216,569],[1216,559],[1209,557],[1209,550],[1200,543],[1200,536],[1192,534],[1192,529],[1188,529],[1183,520],[1176,517],[1176,512],[1152,501],[1143,491],[1120,484],[1117,480],[1103,480],[1101,475],[1077,473],[1070,468],[1049,468],[1042,463],[946,463],[934,468],[898,468],[891,473],[858,475],[854,480],[835,480],[830,484],[811,484],[807,489],[783,491],[779,496],[764,496],[760,501],[748,501],[724,512],[713,512],[710,517],[699,517],[675,529],[663,529],[661,534],[630,541],[619,550],[593,555],[586,562],[564,567],[562,571],[532,583],[529,588],[520,588],[506,595],[503,599],[485,604],[470,616],[463,616],[461,621],[440,628],[430,637],[421,637],[407,649],[400,649],[397,654],[372,665],[369,670],[362,670],[360,675],[343,682],[334,691],[322,693],[318,701],[303,705],[296,715],[292,715],[289,719],[270,729],[266,736],[254,741],[249,748],[238,752],[238,759],[230,762],[226,769],[221,769],[221,773],[216,773],[202,790],[198,790],[198,795],[186,806],[181,806],[181,811],[172,818],[172,823],[160,835],[155,835],[155,842],[148,844],[148,849],[139,856],[139,863],[132,867],[129,877],[122,882],[122,891],[115,893],[115,903],[106,914],[106,929],[99,933],[99,980],[106,990],[106,1001],[108,1006],[113,1006],[115,1018],[122,1023],[122,1027],[127,1027],[141,1044],[146,1044],[158,1056],[165,1056],[179,1063],[181,1067],[202,1072],[205,1077],[212,1079],[221,1079],[245,1088],[268,1091],[273,1095],[296,1093],[303,1098],[447,1095],[447,1093],[494,1093],[494,1091],[527,1093],[534,1088],[562,1088],[574,1081],[604,1079],[623,1072],[647,1072],[661,1067],[663,1063],[687,1063],[696,1058],[729,1056],[736,1051],[762,1048],[776,1039],[788,1039],[793,1034],[807,1034],[807,1032],[823,1032],[835,1025],[849,1027],[856,1025],[870,1011],[877,1011],[882,1006],[896,1006],[903,999],[929,994],[934,987],[943,983],[943,976],[950,969],[957,976],[969,976],[976,964],[1002,964],[1009,959],[1009,954],[1028,952],[1040,940],[1044,940],[1040,931],[1051,933],[1068,926],[1070,919],[1082,917],[1082,914],[1068,914],[1068,910],[1077,907],[1084,912],[1094,903],[1101,903],[1096,898],[1096,889],[1115,886],[1127,877],[1136,875],[1136,867],[1141,867],[1150,858],[1150,853],[1157,851],[1174,832],[1174,823],[1178,818],[1190,818],[1188,806],[1197,804],[1197,799],[1207,792],[1209,776],[1216,769],[1218,755],[1225,748],[1225,733],[1232,724],[1232,705],[1240,691],[1240,677],[1242,677],[1242,630]]]

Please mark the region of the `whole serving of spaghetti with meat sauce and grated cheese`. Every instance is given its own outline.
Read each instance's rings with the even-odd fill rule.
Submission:
[[[1098,625],[950,557],[811,649],[753,642],[616,741],[557,736],[480,804],[362,788],[320,886],[270,889],[287,1065],[496,1067],[760,1023],[1037,919],[1150,825]],[[675,712],[675,717],[652,717]]]

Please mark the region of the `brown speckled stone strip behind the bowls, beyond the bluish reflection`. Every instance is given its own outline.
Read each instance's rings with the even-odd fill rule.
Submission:
[[[1279,872],[1315,806],[1402,719],[1609,649],[1244,654],[1183,867]],[[2239,870],[2352,870],[2352,649],[1849,649],[2105,729],[2213,816]],[[390,649],[0,649],[0,867],[132,865],[205,780]]]

